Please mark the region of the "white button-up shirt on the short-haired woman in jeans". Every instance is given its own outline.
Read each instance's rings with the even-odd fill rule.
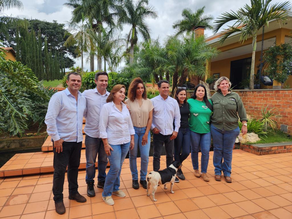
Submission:
[[[135,134],[130,112],[122,103],[122,112],[114,102],[103,105],[99,116],[99,137],[107,138],[109,144],[120,145],[131,141]]]

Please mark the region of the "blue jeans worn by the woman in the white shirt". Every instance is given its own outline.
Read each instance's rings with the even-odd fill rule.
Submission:
[[[111,150],[111,155],[108,156],[110,168],[107,173],[107,177],[105,178],[105,186],[103,187],[102,197],[111,196],[112,192],[119,190],[122,164],[128,154],[130,142],[121,145],[109,145],[114,150]]]

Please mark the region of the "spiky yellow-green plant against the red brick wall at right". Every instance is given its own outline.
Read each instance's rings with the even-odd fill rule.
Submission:
[[[270,126],[273,130],[277,129],[278,123],[274,119],[281,118],[282,116],[278,114],[279,109],[272,108],[270,110],[267,110],[266,106],[261,107],[260,110],[260,121],[262,121],[265,124],[265,130]]]

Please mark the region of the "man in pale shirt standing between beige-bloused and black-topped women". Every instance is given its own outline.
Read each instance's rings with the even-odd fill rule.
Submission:
[[[164,145],[166,151],[166,167],[173,161],[174,141],[180,128],[180,109],[178,102],[168,96],[169,82],[160,80],[158,83],[159,95],[152,98],[153,119],[153,170],[160,169],[160,155]],[[173,120],[175,128],[173,130]]]

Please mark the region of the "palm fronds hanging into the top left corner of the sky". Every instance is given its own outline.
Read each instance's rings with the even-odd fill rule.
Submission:
[[[1,0],[0,1],[0,32],[8,34],[6,26],[9,24],[14,24],[15,26],[27,28],[29,22],[20,18],[14,18],[3,15],[3,11],[10,8],[17,8],[19,10],[23,9],[22,2],[19,0]]]

